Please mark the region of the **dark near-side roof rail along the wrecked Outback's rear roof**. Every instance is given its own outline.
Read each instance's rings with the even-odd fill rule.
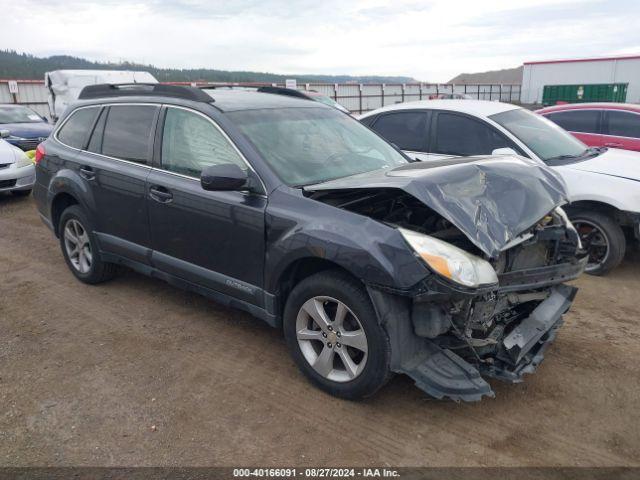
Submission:
[[[195,102],[213,102],[213,98],[195,87],[182,85],[163,85],[161,83],[100,83],[88,85],[82,89],[80,100],[104,97],[174,97]]]

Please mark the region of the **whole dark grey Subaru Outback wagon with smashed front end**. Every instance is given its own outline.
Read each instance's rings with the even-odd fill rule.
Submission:
[[[117,265],[283,328],[340,397],[392,372],[493,395],[555,337],[584,269],[562,180],[515,156],[411,161],[284,95],[86,87],[37,150],[34,197],[85,283]],[[238,351],[238,355],[242,352]]]

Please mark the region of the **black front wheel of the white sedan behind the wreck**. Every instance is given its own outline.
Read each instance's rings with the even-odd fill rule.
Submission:
[[[622,228],[615,219],[605,213],[593,210],[575,212],[570,216],[570,219],[576,230],[578,230],[583,246],[589,251],[589,264],[585,269],[586,273],[590,275],[606,275],[620,265],[627,248],[627,241]],[[592,246],[592,248],[589,248],[589,242],[594,238],[600,240],[598,243],[602,241],[606,243],[606,253],[601,253],[603,247]]]

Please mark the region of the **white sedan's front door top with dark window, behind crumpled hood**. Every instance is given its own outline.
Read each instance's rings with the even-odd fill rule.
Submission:
[[[499,148],[510,148],[525,155],[522,149],[493,126],[458,112],[433,112],[429,145],[428,161],[491,155]]]

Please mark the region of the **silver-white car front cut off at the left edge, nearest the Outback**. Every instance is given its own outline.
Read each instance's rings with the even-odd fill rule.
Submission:
[[[7,135],[6,131],[0,132],[3,137]],[[26,153],[0,139],[0,192],[29,195],[35,178],[35,167]]]

